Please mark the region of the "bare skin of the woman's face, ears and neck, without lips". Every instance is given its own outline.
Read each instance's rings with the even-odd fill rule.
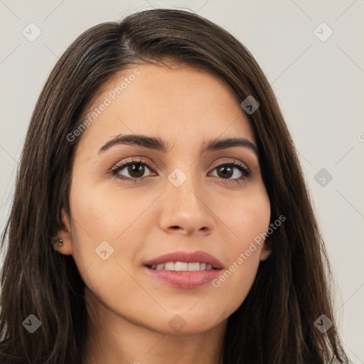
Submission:
[[[90,107],[105,97],[112,101],[80,136],[70,215],[63,211],[66,229],[59,232],[64,244],[58,251],[73,255],[87,286],[83,364],[221,363],[228,317],[270,251],[262,243],[243,264],[237,258],[267,231],[270,205],[251,148],[200,149],[212,139],[245,138],[256,145],[255,136],[240,101],[215,75],[187,67],[137,69],[140,75],[115,100],[109,92],[134,68],[103,85]],[[100,151],[125,134],[158,137],[168,151],[125,144]],[[130,160],[151,165],[137,164],[144,179],[133,181],[134,170],[115,168]],[[231,173],[223,174],[219,166],[227,163]],[[173,171],[179,181],[186,176],[181,186],[168,179]],[[101,242],[107,242],[107,259],[95,252]],[[219,287],[173,287],[144,263],[176,250],[208,252],[222,272],[234,262],[236,269]]]

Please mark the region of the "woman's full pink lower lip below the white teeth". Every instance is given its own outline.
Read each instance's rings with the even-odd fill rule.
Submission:
[[[217,278],[221,269],[198,270],[192,272],[178,272],[175,270],[150,269],[150,274],[161,281],[178,288],[198,288],[209,284]]]

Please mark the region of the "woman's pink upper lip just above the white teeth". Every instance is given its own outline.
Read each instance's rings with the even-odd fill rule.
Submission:
[[[217,258],[213,257],[206,252],[197,251],[197,252],[169,252],[160,257],[156,257],[155,259],[148,260],[144,263],[144,265],[154,265],[154,264],[162,264],[167,262],[186,262],[186,263],[206,263],[211,264],[212,267],[216,269],[223,268],[223,264]]]

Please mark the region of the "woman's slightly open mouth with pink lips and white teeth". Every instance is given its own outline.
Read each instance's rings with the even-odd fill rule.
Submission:
[[[206,252],[171,252],[144,263],[152,277],[178,288],[198,288],[218,277],[223,264]]]

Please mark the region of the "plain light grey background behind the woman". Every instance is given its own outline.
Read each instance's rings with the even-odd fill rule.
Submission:
[[[31,113],[55,62],[90,26],[152,7],[188,8],[218,23],[267,75],[326,239],[343,342],[353,363],[364,363],[363,0],[0,0],[1,231]],[[31,42],[22,31],[36,36],[36,27]]]

